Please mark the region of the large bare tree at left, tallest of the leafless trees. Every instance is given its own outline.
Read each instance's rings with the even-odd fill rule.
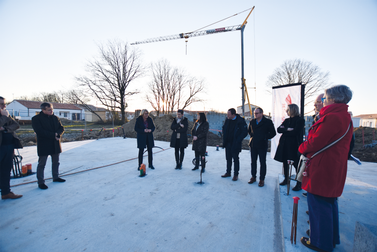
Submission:
[[[87,75],[76,76],[85,95],[94,97],[109,111],[119,109],[125,120],[126,99],[138,90],[129,90],[130,83],[145,73],[141,51],[120,40],[98,44],[99,53],[85,65]]]

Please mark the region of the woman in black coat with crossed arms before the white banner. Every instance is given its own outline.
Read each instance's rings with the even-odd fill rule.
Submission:
[[[297,171],[299,164],[298,149],[303,142],[303,129],[305,127],[305,120],[300,118],[300,109],[296,104],[288,105],[286,110],[289,118],[284,120],[277,128],[277,133],[282,134],[277,146],[276,153],[273,159],[282,162],[284,167],[284,181],[280,186],[288,184],[289,164],[287,160],[293,160]],[[301,190],[301,182],[297,182],[296,186],[292,188],[293,191]]]

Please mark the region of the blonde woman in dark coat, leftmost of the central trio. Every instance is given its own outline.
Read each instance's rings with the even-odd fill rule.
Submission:
[[[149,112],[146,109],[141,111],[140,116],[136,119],[134,130],[137,132],[137,147],[139,148],[139,167],[143,163],[143,153],[145,147],[148,149],[148,167],[153,167],[152,148],[154,147],[153,131],[156,129],[153,119],[149,117]]]

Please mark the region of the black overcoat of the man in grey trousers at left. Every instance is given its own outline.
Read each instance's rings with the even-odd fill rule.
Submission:
[[[42,111],[32,118],[32,127],[37,134],[38,156],[47,156],[61,153],[60,137],[64,133],[59,117],[46,115]],[[55,139],[55,133],[59,140]]]

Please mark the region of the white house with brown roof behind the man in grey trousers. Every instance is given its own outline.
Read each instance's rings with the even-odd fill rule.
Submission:
[[[39,112],[41,112],[41,104],[43,102],[14,100],[7,105],[7,110],[11,116],[20,120],[31,120],[31,118]],[[65,103],[52,103],[54,108],[54,114],[60,118],[66,118],[69,120],[80,120],[81,108],[73,104]]]

